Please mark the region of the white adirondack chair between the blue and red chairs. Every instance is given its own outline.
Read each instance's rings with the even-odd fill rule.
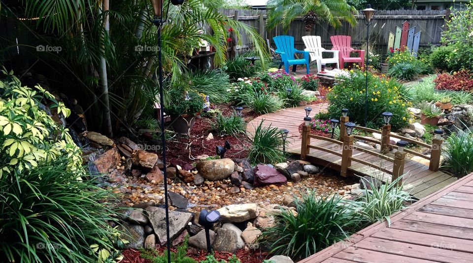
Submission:
[[[340,68],[338,65],[338,50],[326,50],[322,47],[322,41],[320,36],[304,36],[302,40],[305,44],[304,51],[309,51],[310,62],[317,62],[317,70],[322,70],[322,64],[336,63],[337,69]],[[332,58],[322,58],[322,53],[332,53]]]

